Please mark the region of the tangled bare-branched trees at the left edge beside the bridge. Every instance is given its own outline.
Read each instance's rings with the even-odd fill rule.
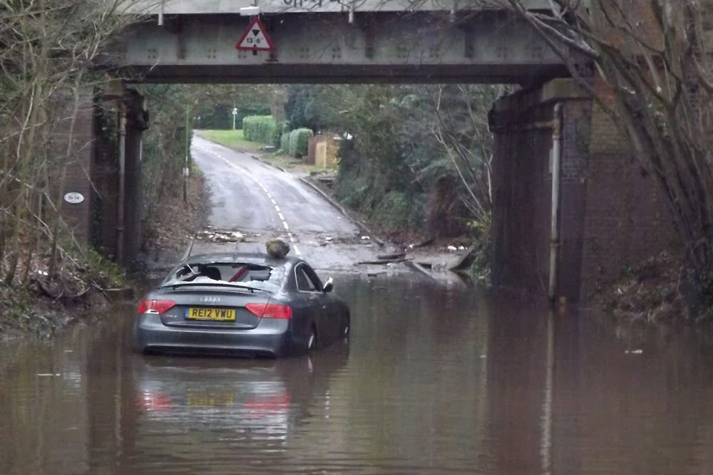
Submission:
[[[66,165],[86,90],[101,80],[93,62],[133,16],[128,0],[0,0],[0,279],[29,282],[49,251],[56,268]],[[76,243],[75,243],[76,244]],[[61,250],[72,261],[68,250]]]

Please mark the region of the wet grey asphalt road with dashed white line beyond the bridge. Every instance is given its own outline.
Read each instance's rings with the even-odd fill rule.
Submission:
[[[191,254],[263,252],[267,241],[279,238],[316,268],[361,271],[358,262],[392,251],[365,239],[348,216],[289,172],[198,136],[191,152],[210,192],[210,228]],[[244,239],[231,239],[233,232]]]

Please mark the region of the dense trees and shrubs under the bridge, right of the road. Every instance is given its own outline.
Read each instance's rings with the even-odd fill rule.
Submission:
[[[465,232],[466,221],[488,225],[487,111],[503,86],[292,88],[288,113],[309,109],[326,130],[352,137],[340,153],[338,195],[345,204],[394,231],[453,236]]]

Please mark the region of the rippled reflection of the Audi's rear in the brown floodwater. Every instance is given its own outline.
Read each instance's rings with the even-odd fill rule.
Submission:
[[[223,442],[284,441],[313,401],[329,394],[330,381],[348,358],[346,342],[284,360],[135,355],[140,432],[161,434],[161,445],[189,432],[212,437],[201,443],[217,441],[216,433]]]

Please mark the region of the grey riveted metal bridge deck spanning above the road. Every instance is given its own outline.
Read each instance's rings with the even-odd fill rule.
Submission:
[[[131,11],[148,16],[128,28],[106,65],[161,83],[530,84],[568,75],[535,31],[492,1],[258,1],[275,48],[238,51],[251,19],[241,11],[254,4],[137,4]]]

